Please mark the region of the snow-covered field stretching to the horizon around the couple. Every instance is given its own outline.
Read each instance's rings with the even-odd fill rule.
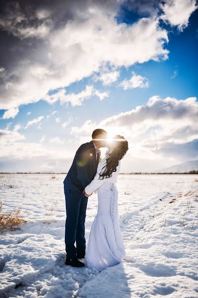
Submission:
[[[119,175],[127,257],[100,273],[64,264],[64,177],[0,174],[2,212],[27,220],[0,235],[0,297],[198,297],[198,176]],[[87,240],[97,205],[93,194]]]

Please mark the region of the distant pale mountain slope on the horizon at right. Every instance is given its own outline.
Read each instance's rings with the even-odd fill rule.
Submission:
[[[190,171],[193,171],[193,170],[196,170],[198,171],[198,160],[190,160],[190,161],[187,161],[187,162],[184,162],[184,163],[180,163],[180,164],[176,164],[176,165],[172,165],[170,167],[167,167],[167,168],[164,168],[164,169],[161,169],[157,172],[159,173],[166,173],[166,172],[177,172],[177,173],[183,173],[183,172],[190,172]]]

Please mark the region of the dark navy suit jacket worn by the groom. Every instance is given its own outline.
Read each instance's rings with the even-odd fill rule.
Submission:
[[[63,181],[70,190],[82,191],[95,177],[99,164],[94,142],[82,144],[76,151],[72,165]]]

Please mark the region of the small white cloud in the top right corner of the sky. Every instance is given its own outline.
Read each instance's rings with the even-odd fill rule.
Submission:
[[[178,26],[180,31],[188,26],[191,14],[198,8],[196,0],[166,0],[160,7],[164,11],[161,19]]]

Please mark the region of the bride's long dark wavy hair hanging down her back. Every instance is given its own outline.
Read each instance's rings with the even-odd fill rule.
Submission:
[[[115,142],[115,147],[112,152],[108,154],[109,156],[106,158],[106,164],[100,171],[99,179],[111,177],[112,172],[116,172],[116,167],[119,164],[119,160],[124,157],[127,150],[129,149],[128,142],[123,136],[116,135],[113,140],[113,142]],[[103,169],[104,171],[102,171]]]

